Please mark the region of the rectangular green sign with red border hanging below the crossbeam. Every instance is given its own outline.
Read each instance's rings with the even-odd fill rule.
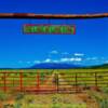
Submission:
[[[73,25],[24,25],[24,33],[43,33],[43,35],[75,35]]]

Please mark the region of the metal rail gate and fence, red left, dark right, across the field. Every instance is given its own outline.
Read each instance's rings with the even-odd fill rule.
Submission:
[[[0,91],[26,93],[79,93],[108,87],[108,72],[0,72]]]

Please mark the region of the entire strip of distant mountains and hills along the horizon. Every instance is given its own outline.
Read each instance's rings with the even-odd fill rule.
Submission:
[[[67,63],[41,63],[36,64],[31,67],[25,68],[0,68],[0,69],[108,69],[108,64],[96,65],[96,66],[79,66]]]

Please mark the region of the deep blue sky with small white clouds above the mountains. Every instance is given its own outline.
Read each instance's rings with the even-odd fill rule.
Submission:
[[[4,0],[0,13],[81,14],[108,12],[107,0]],[[76,35],[24,35],[24,24],[76,25]],[[0,19],[0,67],[27,67],[62,62],[108,63],[108,18]]]

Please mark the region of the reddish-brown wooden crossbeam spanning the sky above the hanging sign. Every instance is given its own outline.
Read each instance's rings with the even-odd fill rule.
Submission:
[[[97,14],[35,14],[35,13],[0,13],[0,18],[103,18],[108,17],[108,13]]]

